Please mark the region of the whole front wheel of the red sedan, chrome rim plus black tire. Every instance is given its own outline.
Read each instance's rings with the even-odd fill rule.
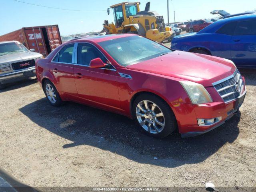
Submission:
[[[157,96],[138,96],[134,101],[133,112],[138,124],[152,137],[166,137],[176,128],[176,119],[171,108]]]

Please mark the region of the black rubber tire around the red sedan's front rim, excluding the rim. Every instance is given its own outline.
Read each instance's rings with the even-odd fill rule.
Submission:
[[[145,130],[140,125],[139,120],[136,116],[136,108],[137,108],[137,105],[140,102],[142,102],[143,100],[148,100],[150,102],[154,102],[154,104],[156,104],[160,108],[162,113],[164,114],[164,117],[163,117],[164,118],[164,127],[163,127],[161,132],[151,133],[151,132],[148,132],[147,130]],[[149,104],[150,104],[150,102],[149,102]],[[158,109],[158,107],[157,107],[157,109]],[[150,106],[149,106],[149,108],[150,108]],[[157,109],[155,108],[155,110],[157,110]],[[172,112],[172,109],[170,108],[170,106],[164,100],[162,100],[161,98],[159,98],[158,96],[156,96],[154,94],[141,94],[141,95],[139,95],[133,102],[132,116],[133,116],[134,120],[138,123],[140,128],[142,128],[142,130],[146,134],[148,134],[149,136],[152,136],[154,138],[164,138],[164,137],[170,135],[172,132],[174,132],[174,130],[176,130],[176,128],[177,128],[176,118],[175,118],[174,113]],[[146,125],[146,123],[144,125]],[[146,126],[148,126],[148,124]],[[152,127],[152,128],[154,129],[154,127]]]

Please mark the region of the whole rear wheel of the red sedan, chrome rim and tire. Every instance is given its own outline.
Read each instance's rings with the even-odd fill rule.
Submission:
[[[44,82],[44,93],[46,95],[48,102],[52,106],[60,106],[62,104],[62,100],[55,86],[49,80],[46,80],[46,82]]]

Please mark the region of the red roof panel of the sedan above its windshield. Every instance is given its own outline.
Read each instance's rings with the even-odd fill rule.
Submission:
[[[117,38],[123,38],[123,37],[129,37],[129,36],[134,36],[135,34],[109,34],[109,35],[96,35],[96,36],[88,36],[88,37],[82,37],[82,38],[75,38],[73,40],[70,40],[70,42],[103,42],[103,41],[108,41],[112,39],[117,39]]]

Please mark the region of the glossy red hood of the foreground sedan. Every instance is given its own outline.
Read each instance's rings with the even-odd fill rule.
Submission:
[[[236,70],[232,63],[222,58],[183,51],[170,52],[126,68],[189,80],[205,87],[234,74]]]

